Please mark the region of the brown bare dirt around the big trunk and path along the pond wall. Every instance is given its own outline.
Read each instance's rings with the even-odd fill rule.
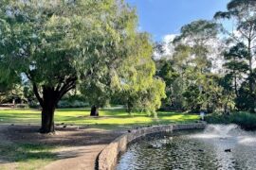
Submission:
[[[46,144],[56,146],[54,153],[57,161],[52,161],[44,170],[93,170],[95,161],[101,150],[123,132],[107,131],[95,128],[59,126],[54,135],[42,135],[37,132],[37,126],[2,126],[0,125],[0,141],[14,144]],[[15,169],[15,162],[5,162],[0,157],[1,164]]]

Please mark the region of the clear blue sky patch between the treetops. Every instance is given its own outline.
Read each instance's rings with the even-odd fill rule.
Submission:
[[[212,19],[218,10],[225,10],[229,0],[126,0],[137,8],[139,30],[161,41],[177,34],[181,26],[198,19]]]

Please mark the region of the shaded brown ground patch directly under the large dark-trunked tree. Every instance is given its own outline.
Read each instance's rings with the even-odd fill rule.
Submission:
[[[43,144],[53,147],[108,144],[119,136],[118,132],[91,127],[56,127],[56,134],[41,134],[38,132],[39,128],[40,126],[6,126],[0,132],[14,144]]]

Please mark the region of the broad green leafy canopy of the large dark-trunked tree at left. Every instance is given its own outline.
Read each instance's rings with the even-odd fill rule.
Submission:
[[[124,42],[137,26],[134,10],[113,0],[11,0],[1,3],[0,16],[1,74],[25,73],[39,87],[64,92],[125,58]]]

